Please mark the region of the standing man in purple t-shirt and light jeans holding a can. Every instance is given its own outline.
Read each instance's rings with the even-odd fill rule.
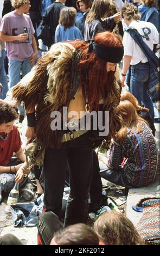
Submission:
[[[13,0],[12,7],[15,10],[3,16],[0,27],[0,40],[6,41],[7,46],[10,87],[21,80],[21,68],[22,75],[25,76],[38,56],[34,27],[30,17],[25,14],[30,8],[29,0]],[[27,33],[24,33],[26,29]],[[24,117],[24,109],[21,106],[18,108],[21,120]]]

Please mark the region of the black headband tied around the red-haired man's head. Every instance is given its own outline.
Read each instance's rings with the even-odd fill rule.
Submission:
[[[93,40],[90,41],[88,52],[94,53],[101,59],[106,60],[106,62],[111,63],[119,63],[120,60],[123,58],[124,48],[122,47],[105,47],[101,46],[100,44],[96,44]]]

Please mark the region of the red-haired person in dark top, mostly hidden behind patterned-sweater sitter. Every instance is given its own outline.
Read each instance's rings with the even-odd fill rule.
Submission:
[[[129,92],[121,92],[121,95],[120,95],[120,100],[123,101],[123,100],[129,100],[133,106],[135,107],[135,109],[137,110],[137,114],[139,115],[139,117],[142,117],[143,119],[145,119],[149,126],[150,126],[150,129],[152,130],[152,133],[153,133],[153,136],[155,136],[155,125],[153,123],[153,120],[151,118],[151,115],[149,113],[149,109],[148,108],[145,108],[145,107],[142,107],[142,106],[139,106],[138,105],[138,100],[136,99],[136,97],[129,93]]]

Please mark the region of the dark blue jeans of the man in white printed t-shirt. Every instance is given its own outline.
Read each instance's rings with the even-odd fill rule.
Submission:
[[[130,80],[130,93],[132,93],[139,104],[143,102],[146,108],[149,108],[149,113],[154,120],[153,102],[148,94],[150,78],[150,65],[146,63],[138,63],[131,65],[131,80]]]

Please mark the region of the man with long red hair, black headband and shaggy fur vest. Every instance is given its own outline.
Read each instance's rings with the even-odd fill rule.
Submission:
[[[46,148],[44,205],[59,217],[69,164],[71,191],[65,226],[87,222],[93,148],[104,139],[107,145],[119,129],[116,106],[121,88],[114,72],[122,57],[121,40],[110,32],[97,34],[94,41],[59,42],[14,88],[14,97],[26,108],[26,136],[29,141],[36,136]],[[109,111],[108,134],[99,137],[99,131],[87,125],[81,129],[81,120],[92,111]]]

